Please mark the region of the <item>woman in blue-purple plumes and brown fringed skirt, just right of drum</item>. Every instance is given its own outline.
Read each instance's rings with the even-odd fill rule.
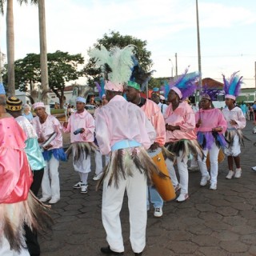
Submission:
[[[198,145],[194,133],[194,111],[187,102],[181,101],[182,98],[186,98],[194,92],[194,82],[196,78],[198,78],[196,74],[184,74],[178,79],[175,86],[170,87],[168,94],[168,102],[170,102],[170,105],[164,115],[166,122],[167,150],[176,154],[178,174],[180,176],[179,184],[174,170],[174,163],[166,158],[166,165],[170,172],[170,178],[174,184],[175,190],[181,189],[181,193],[176,199],[177,202],[183,202],[189,197],[187,161],[190,154],[197,155],[197,151],[200,151],[200,146]]]

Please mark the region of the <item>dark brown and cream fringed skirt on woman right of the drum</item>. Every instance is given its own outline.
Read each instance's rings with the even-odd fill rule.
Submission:
[[[190,158],[190,155],[193,155],[195,159],[198,158],[198,154],[202,157],[205,157],[201,146],[198,144],[197,140],[188,140],[182,139],[178,142],[166,143],[166,149],[171,153],[179,156],[180,158],[185,158],[186,156]]]

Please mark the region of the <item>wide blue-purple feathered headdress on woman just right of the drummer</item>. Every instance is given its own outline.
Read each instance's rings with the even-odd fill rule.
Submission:
[[[170,83],[169,86],[164,86],[165,96],[168,95],[170,90],[174,90],[178,94],[179,98],[188,98],[191,94],[194,93],[196,89],[195,83],[198,80],[199,74],[197,72],[187,74],[188,68],[185,70],[185,73],[182,74],[178,80],[174,83]]]

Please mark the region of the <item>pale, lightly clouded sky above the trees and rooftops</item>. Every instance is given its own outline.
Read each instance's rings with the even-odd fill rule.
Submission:
[[[30,1],[29,1],[30,2]],[[47,51],[82,54],[110,31],[147,42],[154,78],[198,70],[196,0],[45,0]],[[255,86],[256,1],[198,0],[202,78],[234,71]],[[39,53],[38,7],[14,0],[15,59]],[[6,54],[6,19],[0,18]],[[175,58],[177,54],[177,58]],[[177,61],[177,70],[176,70]],[[81,81],[80,81],[81,82]]]

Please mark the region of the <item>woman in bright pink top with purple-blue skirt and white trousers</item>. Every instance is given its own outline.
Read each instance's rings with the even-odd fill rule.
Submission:
[[[196,130],[204,155],[208,152],[210,154],[210,175],[206,167],[206,158],[198,155],[198,165],[202,173],[200,185],[206,186],[210,181],[210,190],[217,190],[218,151],[221,146],[226,145],[223,137],[226,120],[221,110],[214,109],[209,94],[202,94],[201,106],[202,109],[195,114]]]

